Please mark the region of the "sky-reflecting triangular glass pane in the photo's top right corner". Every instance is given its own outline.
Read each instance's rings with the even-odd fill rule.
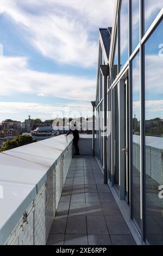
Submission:
[[[163,8],[162,0],[145,0],[145,33]]]

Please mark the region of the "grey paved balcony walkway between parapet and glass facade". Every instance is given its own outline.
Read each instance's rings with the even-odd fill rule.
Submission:
[[[72,159],[47,245],[135,245],[95,158]]]

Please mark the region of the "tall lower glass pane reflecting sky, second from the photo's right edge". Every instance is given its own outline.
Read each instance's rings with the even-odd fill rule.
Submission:
[[[141,228],[140,214],[140,54],[137,53],[132,62],[133,77],[133,159],[132,159],[132,181],[133,181],[133,221]]]

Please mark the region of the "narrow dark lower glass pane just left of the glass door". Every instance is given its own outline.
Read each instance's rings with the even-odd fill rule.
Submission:
[[[114,88],[114,185],[119,190],[119,87]]]

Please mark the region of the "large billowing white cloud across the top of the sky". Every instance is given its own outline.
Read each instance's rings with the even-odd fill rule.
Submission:
[[[3,13],[43,56],[60,63],[93,66],[98,27],[112,26],[112,0],[0,0]]]

